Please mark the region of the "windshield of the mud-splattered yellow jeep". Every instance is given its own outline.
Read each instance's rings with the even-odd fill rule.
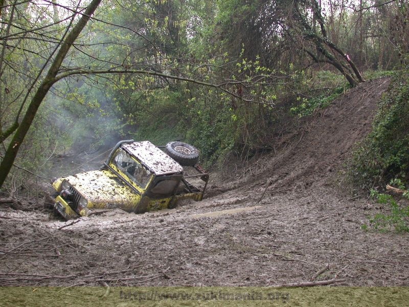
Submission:
[[[141,188],[146,188],[152,176],[141,163],[133,159],[126,151],[119,148],[113,157],[113,164],[131,181]]]

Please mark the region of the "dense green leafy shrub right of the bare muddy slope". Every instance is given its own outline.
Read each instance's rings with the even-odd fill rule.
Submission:
[[[392,178],[409,182],[409,82],[408,72],[391,81],[379,103],[372,131],[355,150],[350,178],[358,189],[383,186]]]

